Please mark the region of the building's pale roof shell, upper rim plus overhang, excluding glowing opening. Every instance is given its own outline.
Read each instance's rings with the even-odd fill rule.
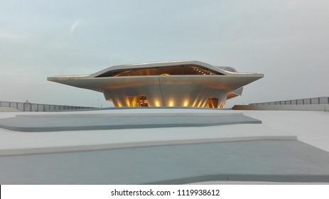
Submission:
[[[145,69],[145,68],[165,68],[170,66],[198,66],[209,70],[216,71],[222,75],[136,75],[136,76],[119,76],[119,77],[97,77],[106,72],[116,70],[129,69]],[[227,92],[234,92],[234,90],[243,87],[255,80],[264,77],[263,74],[247,73],[247,72],[230,72],[217,68],[207,63],[185,60],[185,61],[168,61],[157,63],[141,63],[129,65],[117,65],[100,70],[91,75],[65,75],[48,77],[49,81],[58,82],[74,87],[95,90],[98,92],[105,92],[114,88],[125,89],[125,87],[152,84],[166,84],[166,85],[203,85],[205,87],[212,87],[218,90],[225,90]],[[237,94],[239,95],[239,94]],[[233,96],[232,96],[233,97]]]

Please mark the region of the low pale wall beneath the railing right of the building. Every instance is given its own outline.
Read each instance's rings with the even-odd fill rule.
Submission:
[[[234,105],[234,110],[290,110],[329,112],[329,104]]]

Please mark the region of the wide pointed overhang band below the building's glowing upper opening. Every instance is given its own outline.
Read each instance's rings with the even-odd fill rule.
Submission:
[[[215,87],[219,90],[231,92],[243,87],[259,78],[261,74],[252,75],[147,75],[147,76],[128,76],[128,77],[48,77],[53,82],[81,87],[90,90],[104,92],[114,87],[124,88],[129,85],[151,85],[151,84],[198,84],[206,87]]]

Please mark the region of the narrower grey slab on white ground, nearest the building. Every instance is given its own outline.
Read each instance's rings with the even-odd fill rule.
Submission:
[[[227,124],[261,124],[243,114],[62,114],[19,115],[0,119],[0,127],[12,131],[81,131],[101,129],[146,129],[160,127],[207,127]]]

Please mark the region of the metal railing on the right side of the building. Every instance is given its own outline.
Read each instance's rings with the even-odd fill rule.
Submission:
[[[293,105],[293,104],[329,104],[329,97],[313,97],[305,99],[291,99],[276,102],[260,102],[249,105]]]

